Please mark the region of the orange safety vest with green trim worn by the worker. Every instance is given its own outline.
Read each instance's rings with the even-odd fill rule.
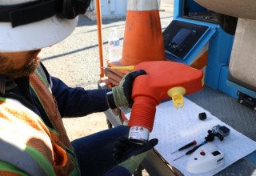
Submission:
[[[29,175],[80,175],[74,148],[42,67],[30,75],[30,86],[54,129],[17,100],[0,98],[0,161]],[[15,172],[0,166],[0,175]]]

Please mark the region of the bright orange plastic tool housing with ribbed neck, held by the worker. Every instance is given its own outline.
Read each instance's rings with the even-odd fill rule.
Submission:
[[[134,105],[128,126],[142,126],[153,130],[155,107],[164,99],[170,99],[167,92],[181,86],[185,94],[192,94],[203,87],[203,72],[179,62],[142,62],[134,70],[145,70],[134,80],[132,98]]]

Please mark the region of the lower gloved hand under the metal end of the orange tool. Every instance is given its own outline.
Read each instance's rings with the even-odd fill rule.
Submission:
[[[114,160],[118,162],[118,166],[126,168],[130,174],[134,174],[134,171],[146,157],[146,154],[157,144],[157,138],[151,139],[143,145],[130,142],[128,138],[119,138],[114,148]]]

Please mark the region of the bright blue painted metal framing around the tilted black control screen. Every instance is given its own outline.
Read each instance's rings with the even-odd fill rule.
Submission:
[[[189,65],[191,61],[194,60],[198,52],[202,50],[202,47],[206,45],[206,42],[209,42],[205,83],[214,90],[222,90],[226,94],[230,94],[230,96],[236,98],[236,93],[234,94],[236,90],[226,85],[226,75],[228,73],[234,36],[227,34],[218,24],[183,18],[183,6],[184,0],[174,0],[175,20],[188,22],[195,25],[208,26],[209,29],[206,30],[205,34],[202,35],[202,38],[198,40],[198,42],[194,45],[194,47],[192,47],[190,52],[186,54],[183,60],[175,58],[170,54],[166,54],[166,57]],[[195,3],[194,0],[186,0],[186,6],[189,6],[189,8],[187,8],[189,12],[204,10],[204,8]],[[225,69],[222,70],[223,68]]]

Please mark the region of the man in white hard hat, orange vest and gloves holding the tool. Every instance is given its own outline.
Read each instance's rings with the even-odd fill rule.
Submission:
[[[132,106],[127,74],[110,89],[71,88],[40,62],[69,36],[90,0],[0,1],[0,175],[131,175],[157,143],[142,146],[117,126],[70,142],[62,118]],[[75,128],[75,126],[74,126]]]

